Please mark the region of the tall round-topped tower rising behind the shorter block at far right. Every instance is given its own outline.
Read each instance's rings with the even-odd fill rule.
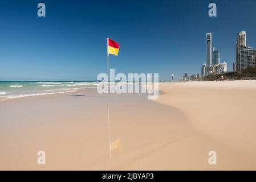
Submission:
[[[246,47],[246,31],[239,32],[237,42],[235,43],[235,63],[236,71],[241,72],[241,50]]]

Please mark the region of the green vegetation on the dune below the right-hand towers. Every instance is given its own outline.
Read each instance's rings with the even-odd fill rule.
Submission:
[[[215,80],[256,80],[256,68],[246,68],[242,74],[238,72],[227,72],[220,75],[208,75],[202,78],[202,81],[215,81]]]

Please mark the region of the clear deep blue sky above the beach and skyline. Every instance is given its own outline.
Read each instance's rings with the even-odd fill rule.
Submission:
[[[46,5],[46,17],[37,5]],[[217,17],[208,16],[210,2]],[[119,43],[109,67],[168,80],[201,72],[206,32],[232,70],[235,40],[256,47],[256,1],[1,1],[0,80],[95,81],[107,72],[107,38]]]

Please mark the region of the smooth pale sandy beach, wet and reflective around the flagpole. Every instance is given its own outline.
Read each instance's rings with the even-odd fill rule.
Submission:
[[[145,94],[96,89],[0,102],[1,170],[256,170],[256,81],[160,83]],[[46,165],[38,165],[38,151]],[[208,152],[217,152],[217,165]]]

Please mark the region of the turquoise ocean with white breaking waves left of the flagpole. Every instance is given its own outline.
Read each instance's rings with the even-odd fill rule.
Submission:
[[[91,81],[0,81],[0,101],[96,88]]]

